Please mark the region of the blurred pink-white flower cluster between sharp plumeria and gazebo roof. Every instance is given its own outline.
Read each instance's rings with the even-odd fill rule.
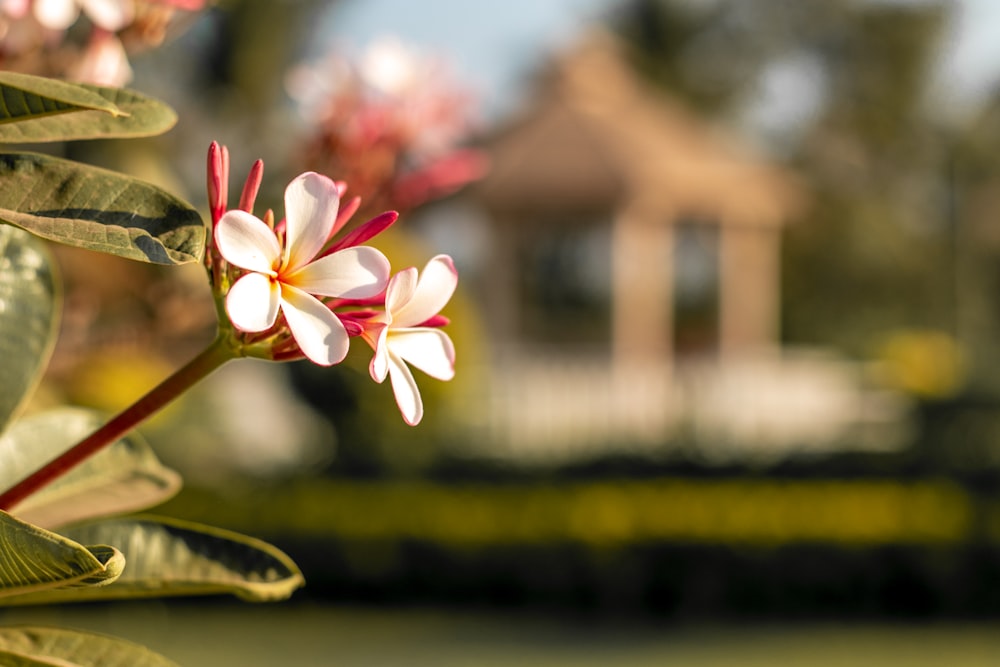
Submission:
[[[486,161],[458,146],[472,130],[471,96],[440,60],[394,39],[358,61],[333,54],[299,65],[287,88],[312,132],[301,166],[342,174],[375,210],[408,210],[480,178]]]

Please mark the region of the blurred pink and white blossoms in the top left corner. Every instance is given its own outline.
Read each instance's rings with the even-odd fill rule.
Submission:
[[[0,0],[0,66],[102,86],[122,86],[132,78],[129,52],[158,46],[178,10],[195,12],[206,3]],[[79,34],[83,38],[78,42]]]

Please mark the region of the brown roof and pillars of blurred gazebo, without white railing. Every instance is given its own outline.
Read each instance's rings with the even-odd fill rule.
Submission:
[[[524,268],[519,245],[546,233],[572,243],[601,225],[616,363],[674,358],[673,292],[687,287],[676,284],[686,278],[677,253],[691,244],[718,268],[718,284],[704,286],[718,293],[711,346],[721,355],[773,346],[781,226],[802,205],[790,176],[640,83],[609,35],[595,33],[556,63],[540,90],[523,120],[490,142],[492,169],[478,190],[496,223],[491,330],[523,340],[517,327],[528,314],[511,288]]]

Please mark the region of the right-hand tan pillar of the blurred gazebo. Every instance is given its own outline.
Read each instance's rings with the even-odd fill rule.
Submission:
[[[753,354],[778,344],[780,243],[777,226],[720,227],[720,355]]]

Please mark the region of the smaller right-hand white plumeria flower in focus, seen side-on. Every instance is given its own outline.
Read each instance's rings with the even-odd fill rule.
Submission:
[[[386,289],[385,312],[365,325],[365,340],[375,349],[372,379],[381,383],[389,376],[396,405],[411,426],[420,422],[424,406],[407,364],[438,380],[455,376],[455,346],[448,334],[421,325],[437,316],[457,285],[458,273],[447,255],[431,259],[419,276],[413,267],[400,271]]]

